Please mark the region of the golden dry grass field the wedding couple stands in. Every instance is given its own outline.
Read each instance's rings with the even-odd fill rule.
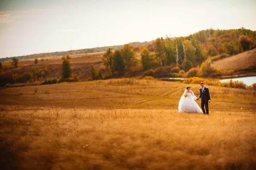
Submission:
[[[185,87],[111,79],[1,89],[1,167],[255,169],[255,92],[208,86],[204,116],[177,112]]]

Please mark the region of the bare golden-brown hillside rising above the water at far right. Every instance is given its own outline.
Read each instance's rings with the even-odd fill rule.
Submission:
[[[256,48],[250,51],[217,60],[212,63],[214,68],[224,70],[256,72]]]

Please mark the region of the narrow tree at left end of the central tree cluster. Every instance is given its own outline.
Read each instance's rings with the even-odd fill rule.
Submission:
[[[105,65],[105,71],[110,72],[114,75],[114,56],[112,48],[108,48],[106,53],[103,55],[103,62]]]

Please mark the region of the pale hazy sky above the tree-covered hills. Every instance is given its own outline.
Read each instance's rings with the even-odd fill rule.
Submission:
[[[256,31],[256,0],[0,0],[0,58],[69,51],[203,29]]]

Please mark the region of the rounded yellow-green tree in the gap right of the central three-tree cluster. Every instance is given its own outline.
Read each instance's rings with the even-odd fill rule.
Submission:
[[[148,48],[143,48],[143,50],[140,53],[140,56],[143,71],[147,71],[154,67],[154,55],[149,52]]]

